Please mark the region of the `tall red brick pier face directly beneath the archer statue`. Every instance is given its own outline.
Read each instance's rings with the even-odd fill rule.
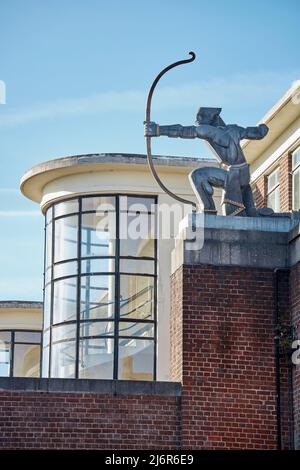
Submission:
[[[275,449],[272,271],[184,266],[183,449]]]

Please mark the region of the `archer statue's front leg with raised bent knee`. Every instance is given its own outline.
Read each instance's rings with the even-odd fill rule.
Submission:
[[[190,173],[189,179],[204,212],[216,214],[213,188],[224,188],[226,171],[221,168],[197,168]]]

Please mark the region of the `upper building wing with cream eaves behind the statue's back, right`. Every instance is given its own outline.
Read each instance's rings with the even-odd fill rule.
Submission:
[[[266,138],[243,145],[258,207],[277,212],[300,209],[299,93],[298,81],[263,117],[269,127]]]

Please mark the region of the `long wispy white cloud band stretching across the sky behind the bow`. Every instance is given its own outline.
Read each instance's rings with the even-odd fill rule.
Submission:
[[[255,106],[261,100],[274,98],[298,78],[298,71],[285,73],[255,73],[195,81],[178,86],[159,86],[153,107],[159,110],[226,106],[245,103]],[[82,114],[141,111],[145,107],[147,90],[104,92],[82,98],[59,99],[38,103],[30,108],[8,110],[0,116],[0,127],[18,126],[33,121]]]

